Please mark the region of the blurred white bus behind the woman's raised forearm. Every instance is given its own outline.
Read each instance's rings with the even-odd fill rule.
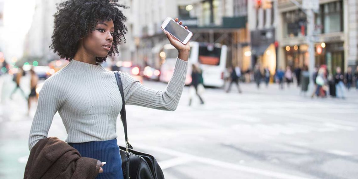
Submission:
[[[173,76],[175,60],[178,55],[172,45],[163,47],[165,63],[160,67],[159,80],[169,82]],[[187,78],[185,84],[191,83],[192,64],[197,63],[203,70],[204,86],[223,87],[223,75],[226,68],[227,46],[221,44],[210,45],[208,43],[190,42],[190,55]]]

